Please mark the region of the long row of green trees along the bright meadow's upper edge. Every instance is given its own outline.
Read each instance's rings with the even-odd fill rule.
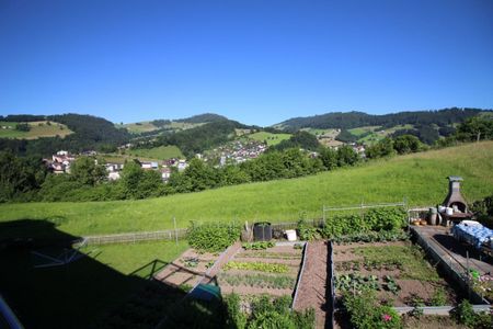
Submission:
[[[116,182],[94,157],[80,157],[70,173],[53,174],[39,158],[20,158],[0,152],[0,202],[8,201],[108,201],[146,198],[197,192],[249,182],[290,179],[339,167],[355,166],[360,158],[348,146],[321,149],[318,157],[299,148],[272,151],[239,166],[215,168],[194,158],[188,167],[171,173],[163,183],[159,171],[144,170],[127,161]]]

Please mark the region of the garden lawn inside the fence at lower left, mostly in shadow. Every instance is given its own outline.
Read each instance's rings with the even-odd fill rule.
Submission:
[[[0,291],[26,328],[89,328],[108,310],[142,291],[149,281],[128,275],[153,260],[170,262],[185,242],[145,242],[87,247],[91,257],[68,265],[35,269],[27,249],[4,249]],[[98,250],[95,250],[98,249]]]

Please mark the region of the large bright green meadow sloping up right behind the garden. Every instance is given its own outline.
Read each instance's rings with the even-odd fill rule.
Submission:
[[[469,202],[493,194],[493,141],[371,161],[312,177],[251,183],[160,198],[91,203],[3,204],[0,222],[56,220],[73,235],[180,227],[191,220],[250,223],[320,218],[323,205],[398,202],[436,205],[448,192],[448,175],[461,175]]]

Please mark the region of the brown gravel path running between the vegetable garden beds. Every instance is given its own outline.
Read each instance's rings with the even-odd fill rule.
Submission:
[[[325,298],[328,277],[326,261],[326,241],[309,242],[307,261],[298,288],[298,299],[295,308],[301,310],[313,307],[316,310],[317,328],[325,328],[325,317],[329,310]]]

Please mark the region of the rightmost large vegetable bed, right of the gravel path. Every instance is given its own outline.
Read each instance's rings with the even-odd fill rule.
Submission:
[[[336,302],[365,288],[391,306],[443,306],[457,294],[409,241],[334,246]]]

